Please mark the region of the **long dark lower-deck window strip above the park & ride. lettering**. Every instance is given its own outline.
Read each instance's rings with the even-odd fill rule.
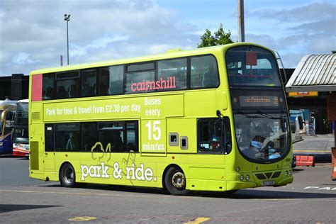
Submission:
[[[45,151],[139,152],[138,121],[45,124]]]

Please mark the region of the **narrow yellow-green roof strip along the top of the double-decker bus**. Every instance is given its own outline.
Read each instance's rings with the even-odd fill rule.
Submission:
[[[60,67],[38,69],[38,70],[30,72],[30,75],[44,74],[44,73],[50,73],[50,72],[65,72],[65,71],[71,71],[71,70],[77,70],[77,69],[104,67],[104,66],[110,66],[110,65],[124,65],[124,64],[130,64],[130,63],[135,63],[135,62],[145,62],[145,61],[150,61],[150,60],[163,60],[163,59],[168,59],[168,58],[186,57],[186,56],[191,56],[191,55],[205,55],[205,54],[210,54],[210,53],[215,53],[215,52],[219,53],[219,52],[223,52],[224,50],[228,50],[228,48],[230,47],[235,47],[237,45],[255,45],[255,46],[263,47],[262,45],[257,45],[254,43],[232,43],[228,45],[218,45],[218,46],[213,46],[213,47],[201,47],[201,48],[196,48],[194,50],[167,50],[166,52],[159,54],[159,55],[147,55],[147,56],[142,56],[142,57],[125,58],[125,59],[120,59],[120,60],[108,60],[104,62],[85,63],[85,64],[78,64],[78,65],[67,65],[67,66],[60,66]]]

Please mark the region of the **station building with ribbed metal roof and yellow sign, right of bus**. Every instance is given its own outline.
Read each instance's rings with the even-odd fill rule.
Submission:
[[[289,109],[308,109],[316,133],[332,133],[336,121],[336,54],[306,55],[286,84]]]

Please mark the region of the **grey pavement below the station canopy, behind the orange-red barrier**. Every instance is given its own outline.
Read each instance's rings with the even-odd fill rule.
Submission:
[[[294,155],[314,155],[315,162],[331,162],[331,147],[335,147],[334,134],[293,134]]]

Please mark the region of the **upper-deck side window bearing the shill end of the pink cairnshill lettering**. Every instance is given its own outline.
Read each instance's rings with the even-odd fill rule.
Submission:
[[[155,87],[160,91],[186,89],[186,80],[186,58],[158,62],[158,82]]]

